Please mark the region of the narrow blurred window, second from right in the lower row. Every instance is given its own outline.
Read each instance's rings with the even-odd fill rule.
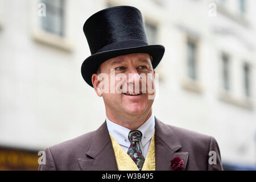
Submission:
[[[230,89],[230,78],[229,78],[229,56],[222,54],[222,79],[223,87],[225,90]]]

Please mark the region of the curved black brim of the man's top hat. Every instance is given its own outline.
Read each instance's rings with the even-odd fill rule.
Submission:
[[[113,57],[127,55],[130,53],[148,53],[152,56],[152,67],[153,69],[159,64],[160,60],[164,55],[164,46],[162,45],[150,45],[150,46],[139,46],[131,48],[112,49],[110,51],[98,52],[89,56],[84,60],[81,66],[81,73],[84,80],[93,87],[92,75],[97,72],[100,65]]]

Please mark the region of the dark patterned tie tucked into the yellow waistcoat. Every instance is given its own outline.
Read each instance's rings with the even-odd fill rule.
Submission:
[[[130,131],[128,138],[131,142],[131,145],[127,151],[127,154],[133,159],[135,164],[138,166],[141,171],[144,164],[144,157],[142,155],[141,147],[139,146],[139,141],[141,140],[142,133],[139,130]]]

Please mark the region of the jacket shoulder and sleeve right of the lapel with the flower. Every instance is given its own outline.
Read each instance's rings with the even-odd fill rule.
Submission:
[[[166,139],[172,140],[169,144],[176,143],[175,145],[179,146],[177,150],[174,148],[177,154],[188,153],[187,170],[223,170],[220,148],[214,137],[181,127],[166,125],[158,120],[156,123],[160,133]]]

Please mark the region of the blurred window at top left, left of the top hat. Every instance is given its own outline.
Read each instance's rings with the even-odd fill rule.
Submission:
[[[41,0],[46,5],[46,16],[41,17],[41,27],[51,34],[64,36],[64,0]]]

